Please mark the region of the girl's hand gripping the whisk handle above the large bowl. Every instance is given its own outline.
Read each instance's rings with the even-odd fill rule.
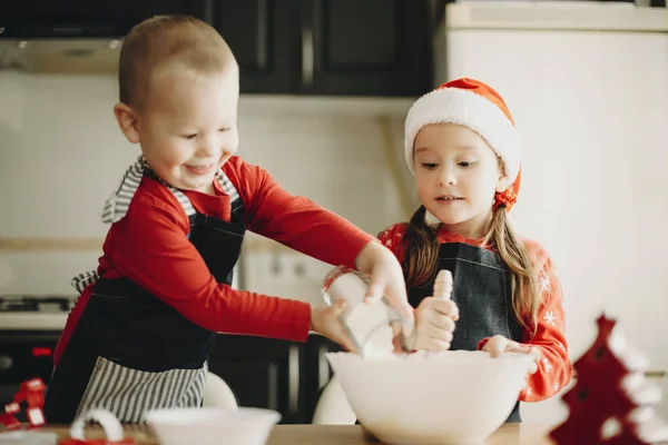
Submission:
[[[415,309],[415,350],[450,349],[459,308],[451,299],[426,297]]]

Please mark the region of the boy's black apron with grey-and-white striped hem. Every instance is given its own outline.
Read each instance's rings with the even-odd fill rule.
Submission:
[[[238,194],[228,192],[227,222],[195,212],[171,190],[189,216],[190,243],[216,280],[232,285],[245,234]],[[45,416],[69,424],[101,407],[122,423],[143,423],[148,409],[202,406],[216,336],[130,279],[100,277],[53,372]]]

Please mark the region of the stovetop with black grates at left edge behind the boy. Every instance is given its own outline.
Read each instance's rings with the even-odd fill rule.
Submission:
[[[62,330],[75,297],[0,295],[0,330]]]

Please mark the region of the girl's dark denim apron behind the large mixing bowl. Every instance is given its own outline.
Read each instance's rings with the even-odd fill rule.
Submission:
[[[452,299],[460,310],[451,350],[475,350],[478,342],[494,335],[521,342],[522,327],[512,309],[510,270],[498,254],[463,243],[442,244],[440,269],[452,273]],[[411,306],[418,307],[431,296],[433,284],[432,279],[409,289]],[[519,402],[507,422],[521,422]]]

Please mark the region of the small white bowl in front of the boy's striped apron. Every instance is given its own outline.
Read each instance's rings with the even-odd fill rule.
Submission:
[[[146,413],[160,445],[263,445],[281,419],[272,409],[177,408]]]

